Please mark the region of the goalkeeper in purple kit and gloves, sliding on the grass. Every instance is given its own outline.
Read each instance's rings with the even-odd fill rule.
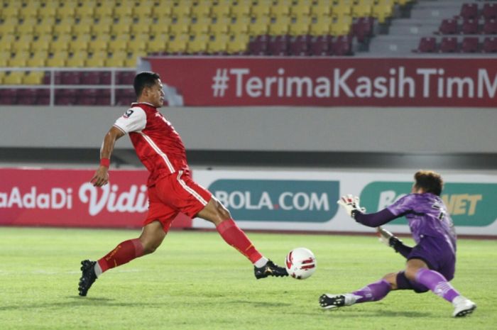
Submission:
[[[350,306],[361,302],[376,302],[392,290],[431,290],[454,305],[453,317],[464,317],[476,309],[476,304],[452,287],[456,264],[456,233],[447,207],[440,199],[442,177],[432,171],[415,173],[410,194],[398,199],[390,207],[373,214],[364,213],[359,197],[347,195],[340,204],[349,216],[368,227],[379,227],[401,216],[409,221],[416,246],[410,248],[388,231],[378,228],[381,238],[408,261],[405,270],[385,275],[360,290],[344,295],[325,294],[320,297],[324,309]]]

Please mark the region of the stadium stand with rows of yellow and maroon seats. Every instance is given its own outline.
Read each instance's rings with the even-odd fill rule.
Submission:
[[[4,0],[0,101],[121,104],[146,55],[474,55],[496,33],[490,1]]]

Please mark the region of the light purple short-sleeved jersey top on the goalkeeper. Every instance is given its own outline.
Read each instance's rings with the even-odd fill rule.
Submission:
[[[447,207],[440,197],[429,192],[408,194],[391,206],[388,211],[398,218],[405,216],[409,221],[414,241],[420,243],[423,236],[442,238],[456,251],[456,233]]]

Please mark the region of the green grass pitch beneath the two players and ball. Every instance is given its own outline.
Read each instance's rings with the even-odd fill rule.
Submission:
[[[78,297],[80,260],[138,234],[0,227],[0,329],[497,329],[497,241],[459,240],[452,283],[478,304],[464,319],[431,292],[322,311],[322,293],[350,292],[403,268],[403,258],[371,236],[249,233],[276,263],[299,246],[318,263],[307,280],[256,280],[217,233],[172,231],[153,255],[109,270]]]

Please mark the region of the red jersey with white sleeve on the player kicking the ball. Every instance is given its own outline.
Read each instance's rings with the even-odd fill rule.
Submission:
[[[155,185],[160,177],[188,170],[186,149],[180,135],[152,104],[131,104],[114,126],[129,133],[136,155],[150,172],[148,187]]]

